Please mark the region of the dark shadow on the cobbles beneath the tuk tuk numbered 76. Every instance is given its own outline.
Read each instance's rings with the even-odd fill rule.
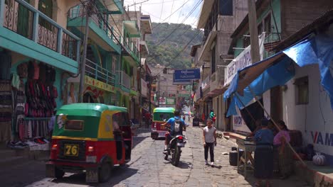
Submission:
[[[111,177],[109,181],[105,183],[85,183],[85,172],[80,174],[72,174],[70,176],[64,176],[63,179],[53,179],[53,183],[67,183],[76,185],[89,185],[89,186],[99,186],[101,184],[109,184],[115,186],[117,183],[128,179],[129,177],[137,174],[137,169],[129,168],[128,166],[115,166],[112,169]]]

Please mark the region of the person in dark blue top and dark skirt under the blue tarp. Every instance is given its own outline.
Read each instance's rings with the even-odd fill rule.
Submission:
[[[255,186],[260,186],[262,180],[266,186],[270,185],[270,178],[273,176],[273,140],[272,130],[268,129],[268,120],[261,120],[261,129],[255,132]]]

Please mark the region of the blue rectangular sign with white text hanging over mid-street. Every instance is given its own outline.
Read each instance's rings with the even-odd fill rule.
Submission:
[[[200,69],[176,69],[174,70],[174,83],[187,82],[200,79]]]

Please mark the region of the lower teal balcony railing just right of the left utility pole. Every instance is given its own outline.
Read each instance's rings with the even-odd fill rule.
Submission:
[[[106,84],[115,86],[115,74],[88,59],[85,62],[85,74]]]

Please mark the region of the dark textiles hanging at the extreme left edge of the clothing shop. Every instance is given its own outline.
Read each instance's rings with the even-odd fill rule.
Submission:
[[[11,140],[11,80],[0,80],[0,142]]]

